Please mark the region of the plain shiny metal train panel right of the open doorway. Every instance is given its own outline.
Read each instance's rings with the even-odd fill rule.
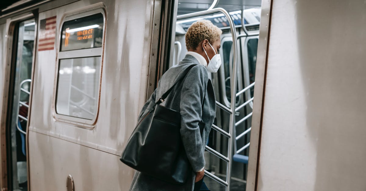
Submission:
[[[365,10],[273,1],[257,190],[366,190]]]

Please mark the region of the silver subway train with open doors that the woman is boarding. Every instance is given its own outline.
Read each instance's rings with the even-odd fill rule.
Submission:
[[[124,146],[200,19],[223,31],[209,189],[366,190],[363,0],[20,0],[0,11],[2,190],[128,190]]]

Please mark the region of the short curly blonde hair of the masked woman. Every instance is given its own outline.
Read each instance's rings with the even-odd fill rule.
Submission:
[[[190,48],[196,49],[198,44],[207,39],[210,44],[220,39],[223,33],[219,27],[212,24],[209,20],[198,20],[194,22],[186,33],[187,50]]]

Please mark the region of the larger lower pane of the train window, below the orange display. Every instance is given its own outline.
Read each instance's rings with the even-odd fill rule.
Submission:
[[[57,80],[56,112],[94,119],[98,109],[101,57],[62,59]]]

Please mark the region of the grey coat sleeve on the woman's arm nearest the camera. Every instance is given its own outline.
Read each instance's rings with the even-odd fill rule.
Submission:
[[[188,72],[182,86],[180,135],[194,172],[198,172],[205,166],[203,143],[198,123],[201,121],[202,102],[207,81],[206,67],[197,65]]]

